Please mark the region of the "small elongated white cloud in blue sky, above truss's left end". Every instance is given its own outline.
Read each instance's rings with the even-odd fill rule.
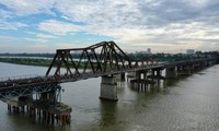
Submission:
[[[68,33],[81,31],[81,26],[56,20],[44,21],[38,25],[38,28],[39,31],[44,31],[55,35],[66,35]]]

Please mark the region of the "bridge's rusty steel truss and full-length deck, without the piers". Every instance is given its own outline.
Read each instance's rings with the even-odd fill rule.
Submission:
[[[60,90],[59,84],[65,82],[216,60],[218,57],[170,63],[159,63],[157,60],[137,61],[130,59],[114,41],[102,41],[85,48],[57,49],[45,75],[0,81],[0,99],[56,92]]]

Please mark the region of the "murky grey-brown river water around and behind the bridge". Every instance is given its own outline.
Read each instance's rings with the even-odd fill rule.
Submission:
[[[47,68],[0,63],[0,78],[45,74]],[[219,66],[165,81],[162,87],[131,90],[118,83],[118,102],[99,99],[101,79],[62,84],[61,102],[72,107],[71,124],[48,126],[10,114],[0,102],[1,131],[218,131]]]

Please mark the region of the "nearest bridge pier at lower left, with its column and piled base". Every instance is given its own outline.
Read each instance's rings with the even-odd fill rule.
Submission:
[[[72,109],[68,105],[58,102],[57,94],[58,91],[45,92],[37,94],[36,99],[33,96],[23,96],[7,99],[5,103],[11,114],[26,112],[34,120],[39,120],[47,124],[70,124]]]

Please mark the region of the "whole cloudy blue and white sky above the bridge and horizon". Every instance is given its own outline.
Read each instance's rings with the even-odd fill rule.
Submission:
[[[128,52],[219,50],[219,0],[0,0],[0,52],[104,40]]]

